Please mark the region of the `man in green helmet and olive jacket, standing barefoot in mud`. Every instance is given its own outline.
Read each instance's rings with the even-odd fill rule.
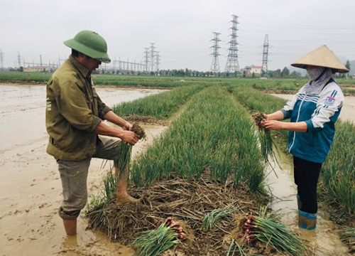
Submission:
[[[72,48],[72,54],[48,80],[45,124],[50,136],[47,153],[57,161],[62,180],[59,215],[67,235],[76,235],[77,217],[87,203],[87,173],[92,157],[114,160],[121,140],[134,145],[139,137],[130,131],[132,124],[102,102],[92,83],[92,71],[102,62],[111,61],[104,38],[96,32],[80,31],[64,43]],[[104,119],[123,130],[110,127],[102,122]],[[115,172],[118,176],[116,166]],[[122,174],[117,202],[134,201],[127,193],[126,174]]]

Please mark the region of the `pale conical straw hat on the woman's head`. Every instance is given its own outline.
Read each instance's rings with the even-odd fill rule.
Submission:
[[[337,70],[339,73],[349,72],[339,58],[334,55],[332,50],[329,50],[329,48],[325,45],[312,50],[310,53],[307,53],[303,57],[299,58],[291,65],[296,68],[306,68],[306,65],[315,65],[319,67],[332,68]]]

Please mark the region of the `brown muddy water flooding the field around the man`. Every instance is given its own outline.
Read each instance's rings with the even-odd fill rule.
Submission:
[[[163,91],[97,87],[110,106]],[[77,237],[66,238],[57,214],[62,199],[58,166],[45,153],[44,110],[44,85],[0,85],[0,255],[131,255],[132,250],[110,243],[106,234],[84,230],[83,218],[78,218]],[[143,128],[148,139],[133,146],[133,154],[166,129]],[[89,194],[102,188],[109,166],[101,169],[101,164],[92,160]]]

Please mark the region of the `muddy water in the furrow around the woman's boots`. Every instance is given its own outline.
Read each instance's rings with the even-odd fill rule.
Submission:
[[[276,214],[283,215],[281,220],[285,225],[289,225],[298,231],[305,239],[309,252],[307,255],[349,255],[348,248],[339,240],[338,228],[327,213],[322,209],[317,213],[317,228],[315,230],[303,230],[298,228],[297,210],[297,187],[293,181],[293,161],[286,154],[280,152],[278,164],[273,164],[278,178],[273,171],[266,177],[271,193],[275,197],[271,208]]]

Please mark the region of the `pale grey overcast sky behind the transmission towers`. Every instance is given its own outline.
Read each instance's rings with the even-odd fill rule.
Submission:
[[[43,64],[58,63],[70,55],[63,41],[92,30],[106,39],[111,60],[143,63],[154,43],[160,70],[209,71],[217,32],[224,71],[233,14],[239,16],[240,68],[262,65],[266,34],[268,70],[288,67],[324,44],[355,60],[354,0],[4,0],[0,49],[4,67],[17,67],[18,53],[21,65],[40,63],[40,56]]]

